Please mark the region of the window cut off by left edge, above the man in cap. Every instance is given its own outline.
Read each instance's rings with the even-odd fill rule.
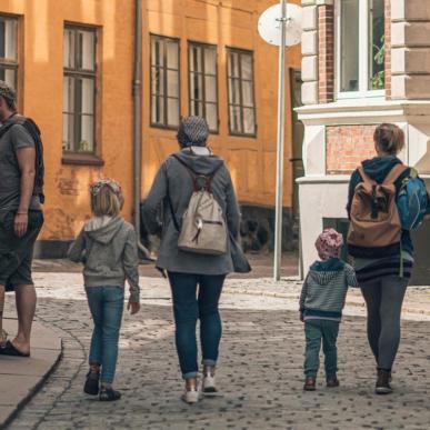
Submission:
[[[18,19],[0,16],[0,79],[17,89]]]

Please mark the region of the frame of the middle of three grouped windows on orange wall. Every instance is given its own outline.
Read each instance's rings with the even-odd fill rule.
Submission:
[[[201,49],[201,66],[202,66],[202,71],[201,72],[196,72],[191,70],[190,62],[191,62],[191,49],[193,47],[200,48]],[[208,74],[206,73],[206,64],[204,64],[204,51],[206,50],[212,50],[216,56],[216,74]],[[209,104],[214,104],[216,106],[216,112],[217,112],[217,129],[209,129],[211,134],[219,134],[220,133],[220,111],[219,111],[219,71],[218,71],[218,46],[217,44],[211,44],[211,43],[206,43],[206,42],[199,42],[194,40],[188,40],[188,109],[189,113],[191,114],[191,104],[193,101],[197,99],[192,98],[191,94],[191,79],[193,74],[201,74],[202,77],[202,99],[200,102],[203,106],[203,118],[208,121],[207,119],[207,103]],[[206,98],[206,77],[211,77],[216,78],[216,102],[208,102]],[[209,126],[209,122],[208,122]]]

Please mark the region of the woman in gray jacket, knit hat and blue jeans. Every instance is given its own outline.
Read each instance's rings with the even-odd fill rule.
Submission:
[[[142,207],[147,229],[157,233],[157,217],[162,204],[162,233],[157,267],[166,271],[171,286],[176,323],[176,346],[182,377],[186,380],[183,400],[196,403],[198,390],[197,320],[200,319],[200,340],[203,363],[202,390],[217,392],[214,371],[221,340],[219,299],[226,276],[233,271],[228,241],[227,252],[220,256],[198,254],[178,248],[180,221],[194,191],[193,174],[211,178],[211,191],[220,204],[228,229],[239,232],[239,206],[229,170],[223,160],[207,146],[208,124],[199,117],[184,118],[178,130],[180,151],[169,157],[157,173]]]

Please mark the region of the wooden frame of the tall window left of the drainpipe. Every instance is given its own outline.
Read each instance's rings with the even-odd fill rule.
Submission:
[[[94,47],[93,47],[93,52],[94,52],[94,70],[80,70],[78,69],[78,67],[76,67],[74,69],[73,68],[68,68],[64,66],[62,66],[62,77],[63,77],[63,86],[64,86],[64,78],[68,77],[68,78],[74,78],[74,79],[79,79],[79,78],[83,78],[83,79],[91,79],[93,81],[93,100],[92,100],[92,118],[93,118],[93,123],[92,123],[92,141],[93,141],[93,146],[92,146],[92,150],[90,151],[79,151],[77,149],[77,142],[72,142],[72,149],[64,149],[62,148],[62,153],[66,158],[69,158],[70,160],[72,160],[73,158],[91,158],[91,157],[97,157],[98,152],[99,152],[99,144],[98,144],[98,88],[99,88],[99,67],[98,67],[98,40],[99,40],[99,28],[98,27],[94,27],[94,26],[84,26],[84,24],[81,24],[81,23],[72,23],[72,22],[64,22],[64,26],[63,26],[63,37],[64,37],[64,33],[66,33],[66,30],[73,30],[73,33],[74,33],[74,43],[76,43],[76,47],[78,46],[77,43],[77,39],[78,39],[78,31],[81,30],[81,31],[90,31],[93,33],[94,36]],[[74,52],[74,63],[78,64],[78,59],[79,59],[79,52],[78,50],[76,50]],[[63,60],[64,61],[64,60]],[[78,94],[78,87],[76,86],[76,89],[74,89],[74,93],[73,93],[73,97],[76,98]],[[74,99],[76,100],[76,99]],[[74,110],[73,112],[67,112],[64,111],[64,104],[62,106],[62,114],[70,114],[72,113],[73,114],[73,136],[77,136],[77,131],[79,129],[78,127],[78,122],[76,120],[76,118],[79,116],[77,113],[77,111]],[[82,112],[80,112],[80,116],[82,117]],[[86,116],[90,116],[90,114],[86,114]],[[64,127],[64,120],[63,120],[63,127]],[[63,142],[64,143],[64,142]],[[89,161],[91,161],[89,159]],[[98,163],[98,162],[97,162]]]

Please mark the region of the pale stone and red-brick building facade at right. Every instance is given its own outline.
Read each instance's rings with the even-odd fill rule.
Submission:
[[[377,124],[399,124],[407,138],[400,157],[430,173],[430,0],[302,0],[302,7],[299,187],[308,267],[323,227],[348,228],[349,176],[373,157]],[[423,246],[418,241],[419,253]]]

